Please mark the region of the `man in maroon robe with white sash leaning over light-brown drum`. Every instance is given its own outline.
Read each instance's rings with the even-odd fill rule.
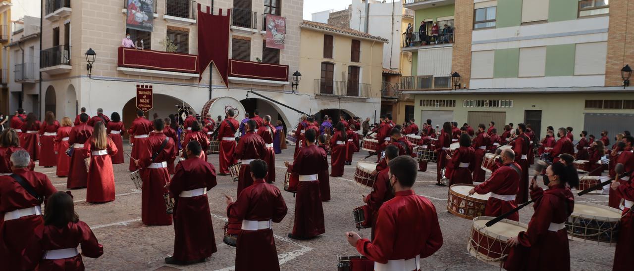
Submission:
[[[500,153],[500,159],[502,160],[501,166],[496,164],[491,177],[469,191],[469,196],[474,193],[483,195],[491,192],[491,196],[486,202],[486,208],[484,208],[484,215],[487,217],[498,217],[517,207],[515,197],[519,191],[522,168],[515,163],[515,152],[511,149],[504,149]],[[489,161],[489,163],[495,162]],[[519,213],[515,212],[507,219],[519,221]]]

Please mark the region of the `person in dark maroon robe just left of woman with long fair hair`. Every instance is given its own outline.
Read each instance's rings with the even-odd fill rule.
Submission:
[[[70,130],[70,136],[68,136],[68,145],[73,148],[72,156],[70,156],[70,167],[68,167],[66,184],[68,189],[84,188],[88,181],[88,172],[84,162],[86,155],[82,149],[84,149],[84,143],[93,136],[93,127],[86,125],[88,121],[88,115],[86,114],[81,115],[79,121],[79,125],[75,125]]]

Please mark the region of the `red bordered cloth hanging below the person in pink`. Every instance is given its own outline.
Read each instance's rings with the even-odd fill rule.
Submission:
[[[167,72],[198,72],[198,56],[119,47],[120,67],[164,70]]]

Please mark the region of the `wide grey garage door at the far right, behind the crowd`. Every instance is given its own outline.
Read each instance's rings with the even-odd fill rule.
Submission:
[[[607,130],[610,144],[614,144],[616,134],[624,130],[632,130],[631,123],[634,123],[634,114],[584,113],[583,130],[588,131],[588,135],[594,135],[597,139],[602,130]],[[577,132],[575,136],[580,132]]]

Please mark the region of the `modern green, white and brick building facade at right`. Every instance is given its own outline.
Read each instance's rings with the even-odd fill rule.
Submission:
[[[408,0],[415,21],[435,17],[444,25],[453,14],[455,27],[450,42],[437,43],[432,33],[430,42],[404,44],[417,56],[401,87],[415,95],[417,118],[434,124],[493,120],[498,132],[523,122],[540,136],[547,126],[614,135],[634,121],[634,88],[621,78],[634,63],[627,2]],[[457,89],[452,72],[460,74]]]

